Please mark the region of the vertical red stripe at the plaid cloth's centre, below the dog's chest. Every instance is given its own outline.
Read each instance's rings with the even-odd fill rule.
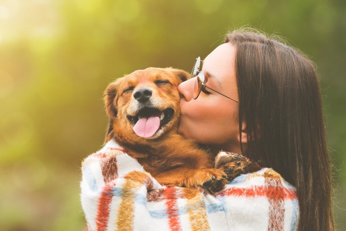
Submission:
[[[180,220],[179,220],[179,209],[176,203],[177,190],[176,187],[168,187],[164,191],[167,205],[168,222],[170,229],[173,231],[181,230]]]

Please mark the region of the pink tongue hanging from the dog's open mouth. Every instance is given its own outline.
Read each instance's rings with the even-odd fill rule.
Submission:
[[[142,138],[152,137],[160,127],[160,118],[149,117],[149,118],[141,118],[138,122],[133,126],[133,131],[137,134],[137,136]]]

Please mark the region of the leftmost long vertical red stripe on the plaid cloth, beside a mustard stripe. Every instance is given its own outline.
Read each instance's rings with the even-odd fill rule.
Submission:
[[[107,184],[103,187],[101,196],[98,199],[97,205],[97,215],[96,215],[96,225],[97,231],[106,231],[108,220],[109,220],[109,211],[110,204],[112,202],[112,188],[114,184]]]

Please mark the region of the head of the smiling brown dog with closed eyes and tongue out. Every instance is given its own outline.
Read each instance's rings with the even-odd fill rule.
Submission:
[[[177,87],[188,77],[182,70],[149,67],[111,83],[105,91],[106,141],[119,136],[152,140],[176,129],[180,114]]]

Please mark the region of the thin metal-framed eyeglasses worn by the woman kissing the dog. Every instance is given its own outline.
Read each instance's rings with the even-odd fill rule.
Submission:
[[[212,90],[213,92],[219,93],[222,96],[225,96],[226,98],[229,98],[230,100],[233,100],[234,102],[239,103],[237,100],[234,100],[230,97],[228,97],[227,95],[224,95],[220,92],[215,91],[214,89],[211,89],[210,87],[206,86],[206,83],[208,82],[208,79],[205,78],[204,73],[202,71],[202,68],[200,68],[200,64],[201,64],[201,58],[198,57],[196,58],[196,63],[193,66],[192,72],[191,72],[191,78],[193,77],[197,77],[196,78],[196,82],[195,85],[193,87],[193,99],[197,99],[199,94],[203,91],[205,91],[205,89],[209,89]]]

